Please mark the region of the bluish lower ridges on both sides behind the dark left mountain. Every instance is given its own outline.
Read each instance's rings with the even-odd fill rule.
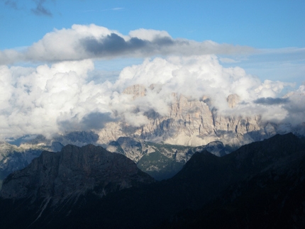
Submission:
[[[64,145],[84,146],[88,143],[96,144],[99,136],[88,131],[72,132],[67,135],[57,136],[48,140],[38,135],[33,140],[19,140],[18,146],[6,142],[0,143],[0,188],[2,180],[11,172],[26,167],[43,150],[57,152]],[[212,142],[208,145],[189,147],[182,145],[169,145],[164,143],[150,143],[144,140],[121,137],[112,141],[105,148],[130,158],[144,172],[157,180],[167,179],[177,174],[183,165],[196,151],[204,149],[217,156],[231,152],[231,147],[224,146],[221,142]]]

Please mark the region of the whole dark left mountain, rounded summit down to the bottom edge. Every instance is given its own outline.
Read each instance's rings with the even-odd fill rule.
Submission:
[[[67,145],[61,152],[44,151],[4,179],[0,228],[57,228],[74,208],[87,204],[87,194],[101,199],[153,182],[132,160],[102,147]]]

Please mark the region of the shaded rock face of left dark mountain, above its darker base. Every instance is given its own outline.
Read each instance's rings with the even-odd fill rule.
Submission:
[[[154,179],[123,155],[103,147],[67,145],[61,152],[44,151],[23,170],[4,179],[3,199],[64,201],[93,191],[97,196],[151,183]]]

